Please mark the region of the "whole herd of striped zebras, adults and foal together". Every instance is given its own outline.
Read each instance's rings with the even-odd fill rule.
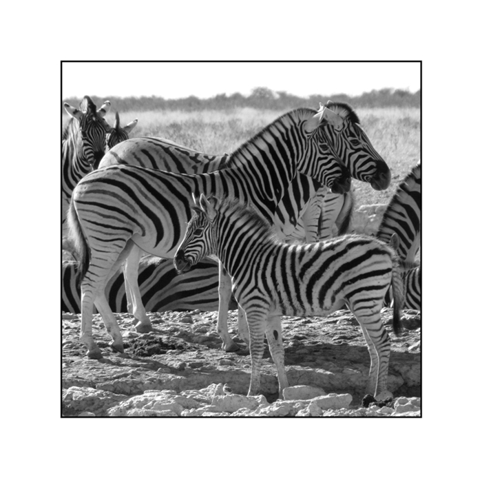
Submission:
[[[227,331],[233,292],[240,304],[240,336],[249,343],[253,364],[249,393],[259,388],[265,332],[282,393],[287,381],[280,315],[326,315],[346,305],[368,345],[368,389],[386,391],[390,343],[379,311],[393,300],[397,332],[404,300],[418,309],[420,303],[421,272],[414,265],[420,244],[419,165],[415,180],[406,186],[406,178],[392,198],[377,238],[348,235],[319,242],[335,225],[342,234],[348,229],[351,178],[375,190],[390,184],[388,165],[350,106],[328,101],[319,110],[292,110],[232,154],[210,156],[163,138],[127,139],[136,121],[121,128],[116,115],[109,127],[104,120],[109,105],[96,110],[88,96],[80,110],[64,105],[72,118],[62,147],[63,246],[75,252],[78,264],[63,266],[62,306],[80,309],[87,356],[102,356],[92,337],[94,305],[112,348],[123,351],[113,306],[132,308],[136,329],[144,332],[152,330],[146,305],[153,310],[163,302],[161,307],[182,309],[183,300],[193,309],[218,302],[222,348],[233,351],[238,346]],[[218,242],[215,230],[222,231]],[[280,242],[301,239],[315,244]],[[222,251],[216,249],[220,242]],[[141,259],[145,253],[163,260]],[[218,256],[219,266],[205,258],[210,253]],[[254,256],[262,260],[243,271]],[[193,268],[175,275],[174,265],[185,270],[199,261],[204,273],[192,276]],[[124,281],[117,274],[123,264]],[[78,269],[80,297],[72,269]],[[172,281],[180,295],[171,290]],[[171,298],[149,302],[166,282]],[[199,306],[202,293],[196,298],[196,291],[205,286],[210,295],[204,294],[206,302]]]

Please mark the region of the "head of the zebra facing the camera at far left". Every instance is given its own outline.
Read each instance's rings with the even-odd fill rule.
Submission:
[[[105,152],[105,133],[108,126],[104,120],[104,116],[109,110],[110,101],[105,103],[96,110],[96,105],[89,96],[84,96],[80,104],[80,110],[63,103],[67,114],[72,116],[72,121],[77,121],[77,148],[83,158],[94,165],[96,160],[100,161]]]

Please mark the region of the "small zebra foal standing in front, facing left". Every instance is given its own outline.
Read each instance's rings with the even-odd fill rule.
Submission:
[[[281,315],[325,316],[346,304],[362,327],[370,353],[366,393],[390,396],[386,382],[390,339],[380,311],[386,291],[395,291],[393,330],[398,335],[403,284],[395,251],[370,236],[346,235],[308,245],[287,245],[254,209],[238,200],[204,194],[194,199],[194,214],[174,264],[188,271],[209,254],[216,255],[233,280],[238,304],[247,315],[251,382],[260,389],[266,333],[282,397],[288,386],[284,370]]]

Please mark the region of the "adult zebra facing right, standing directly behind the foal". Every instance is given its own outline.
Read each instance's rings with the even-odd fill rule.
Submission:
[[[312,176],[335,193],[347,191],[348,169],[329,145],[319,141],[324,123],[333,121],[338,117],[328,108],[318,112],[299,108],[283,114],[238,147],[226,167],[216,172],[187,175],[118,165],[97,169],[81,179],[72,196],[69,222],[81,262],[81,342],[87,346],[87,357],[102,356],[92,338],[94,302],[112,335],[112,348],[123,351],[121,331],[103,295],[105,283],[134,244],[155,256],[174,257],[191,217],[191,193],[238,197],[273,222],[277,204],[296,171]],[[231,284],[222,268],[219,289],[220,309],[224,311]],[[151,330],[147,317],[139,320],[136,330]],[[223,343],[234,346],[227,320],[224,326],[218,318]]]

